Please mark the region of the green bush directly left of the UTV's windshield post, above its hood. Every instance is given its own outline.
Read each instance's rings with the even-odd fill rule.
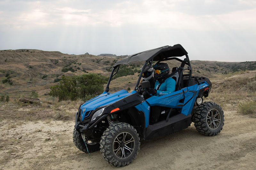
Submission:
[[[107,83],[106,79],[106,77],[94,73],[78,76],[76,78],[78,96],[85,98],[87,95],[101,94],[104,91],[103,85]]]

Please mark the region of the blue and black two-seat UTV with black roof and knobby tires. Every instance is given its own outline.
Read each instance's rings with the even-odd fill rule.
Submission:
[[[151,96],[147,92],[148,81],[139,86],[142,74],[146,66],[167,60],[181,63],[170,74],[176,81],[175,92]],[[135,61],[145,63],[134,90],[109,93],[111,78],[120,65]],[[100,150],[109,164],[125,166],[138,154],[140,139],[172,134],[188,128],[192,122],[201,134],[217,135],[224,125],[224,113],[218,104],[203,102],[211,87],[208,78],[192,76],[188,53],[180,44],[130,55],[115,63],[105,92],[80,106],[73,141],[83,152]],[[152,117],[157,117],[157,120],[151,121]]]

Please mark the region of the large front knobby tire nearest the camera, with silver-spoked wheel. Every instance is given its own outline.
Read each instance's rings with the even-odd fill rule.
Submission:
[[[140,149],[140,137],[136,129],[128,123],[113,123],[100,140],[103,158],[114,166],[125,166],[136,158]]]

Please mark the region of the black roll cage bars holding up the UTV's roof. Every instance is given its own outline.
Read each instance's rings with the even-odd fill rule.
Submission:
[[[183,55],[183,56],[184,56],[184,55]],[[183,76],[189,76],[189,77],[188,77],[188,80],[191,80],[191,75],[192,75],[191,64],[190,64],[190,61],[189,61],[189,58],[188,58],[188,54],[185,54],[185,56],[186,56],[186,58],[184,58],[184,60],[181,60],[180,58],[177,58],[177,57],[168,57],[168,58],[165,58],[165,59],[162,59],[162,60],[158,60],[157,63],[162,62],[162,61],[168,61],[168,60],[177,60],[177,61],[181,62],[181,65],[180,65],[180,67],[179,67],[176,71],[174,71],[174,72],[171,73],[171,76],[172,76],[173,74],[175,74],[176,72],[179,72],[179,74],[180,74],[180,73],[182,73],[184,70],[189,70],[189,74],[184,74]],[[156,57],[156,56],[155,56],[155,57]],[[136,85],[135,85],[135,88],[134,88],[135,91],[138,90],[138,86],[139,86],[139,84],[140,84],[140,79],[141,79],[141,77],[142,77],[142,74],[143,74],[143,72],[144,72],[144,70],[145,70],[146,65],[149,63],[150,66],[152,66],[152,63],[153,63],[153,60],[154,60],[155,57],[153,57],[151,60],[148,60],[148,61],[146,61],[146,62],[144,63],[144,65],[143,65],[143,67],[142,67],[142,69],[141,69],[141,71],[140,71],[140,76],[139,76],[139,78],[138,78],[138,81],[137,81],[137,83],[136,83]],[[182,56],[180,56],[180,57],[182,57]],[[184,69],[185,64],[188,65],[188,68],[186,68],[186,69]],[[116,66],[113,67],[113,69],[112,69],[112,71],[111,71],[111,74],[110,74],[110,76],[109,76],[109,79],[108,79],[108,84],[107,84],[107,86],[106,86],[105,92],[108,92],[108,91],[109,91],[109,84],[110,84],[111,78],[116,75],[116,73],[117,73],[118,70],[119,70],[120,65],[121,65],[121,64],[118,64],[118,65],[116,65]],[[117,68],[117,70],[116,70],[116,68]],[[116,72],[114,73],[115,70],[116,70]],[[180,84],[180,81],[181,81],[181,79],[179,78],[178,84]]]

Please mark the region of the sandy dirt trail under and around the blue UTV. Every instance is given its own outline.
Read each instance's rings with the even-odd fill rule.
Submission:
[[[178,133],[141,141],[137,158],[121,169],[255,169],[256,119],[228,110],[224,114],[219,135],[203,136],[191,124]],[[0,122],[0,169],[118,169],[100,151],[76,149],[73,121],[24,122],[9,130],[6,123]]]

